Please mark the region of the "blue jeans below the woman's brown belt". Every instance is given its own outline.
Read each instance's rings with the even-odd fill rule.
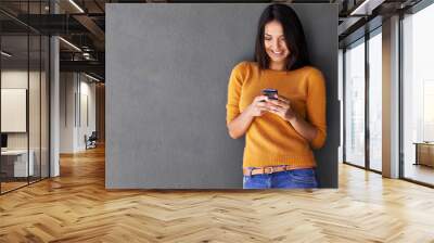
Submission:
[[[318,188],[315,169],[292,169],[243,177],[243,189]]]

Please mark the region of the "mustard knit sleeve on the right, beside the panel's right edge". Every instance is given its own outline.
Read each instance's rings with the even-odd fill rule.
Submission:
[[[310,142],[314,149],[320,149],[326,143],[326,80],[322,73],[312,68],[308,76],[307,119],[317,128],[317,136]]]

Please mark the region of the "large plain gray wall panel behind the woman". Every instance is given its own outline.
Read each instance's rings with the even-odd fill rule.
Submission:
[[[106,8],[106,188],[242,188],[244,141],[226,128],[228,78],[253,56],[267,4]],[[327,77],[322,187],[337,186],[337,7],[293,4]],[[312,17],[315,16],[315,17]]]

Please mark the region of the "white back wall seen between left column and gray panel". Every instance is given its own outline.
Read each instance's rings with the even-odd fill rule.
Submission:
[[[60,152],[84,151],[85,135],[95,130],[95,84],[78,73],[61,73],[60,79]]]

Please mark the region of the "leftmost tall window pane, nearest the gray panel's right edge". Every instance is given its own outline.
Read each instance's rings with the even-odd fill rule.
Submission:
[[[345,52],[345,161],[365,166],[365,42]]]

